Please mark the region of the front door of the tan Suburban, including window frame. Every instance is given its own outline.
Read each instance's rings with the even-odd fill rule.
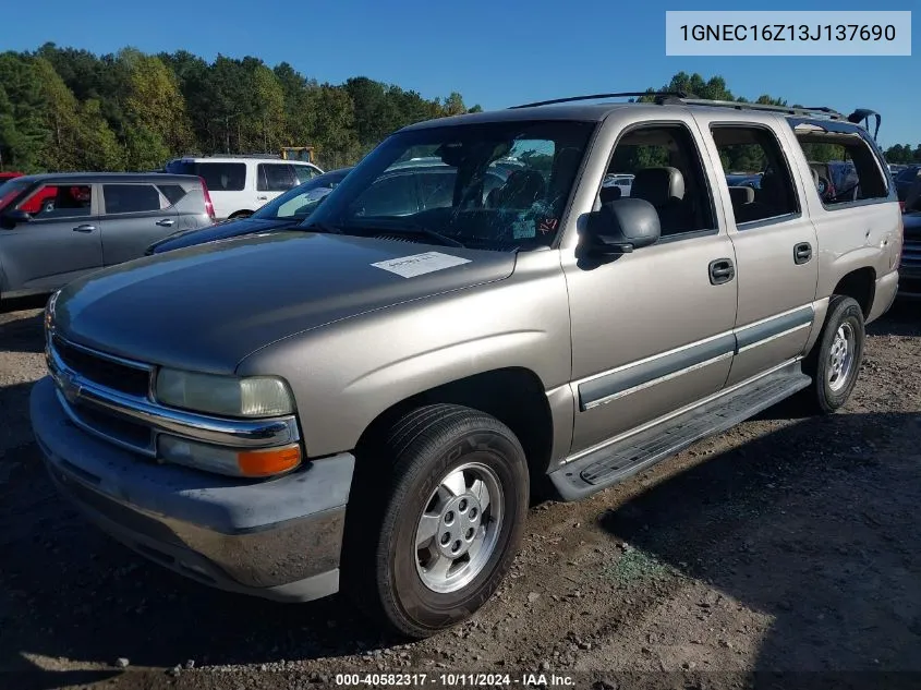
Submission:
[[[718,392],[735,352],[735,253],[698,130],[690,118],[646,124],[638,117],[605,125],[594,154],[605,169],[590,203],[601,204],[606,173],[635,174],[631,196],[656,208],[662,238],[599,265],[580,261],[575,247],[561,256],[572,327],[572,453]]]

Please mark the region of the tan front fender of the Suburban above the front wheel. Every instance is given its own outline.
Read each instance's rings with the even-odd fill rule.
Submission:
[[[526,368],[552,391],[571,373],[566,283],[556,252],[528,258],[499,282],[292,336],[238,373],[289,382],[311,457],[352,450],[386,410],[474,374]]]

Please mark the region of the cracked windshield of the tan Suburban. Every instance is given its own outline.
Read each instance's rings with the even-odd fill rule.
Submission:
[[[549,245],[596,123],[434,126],[385,140],[307,225],[347,234],[433,233],[492,250]]]

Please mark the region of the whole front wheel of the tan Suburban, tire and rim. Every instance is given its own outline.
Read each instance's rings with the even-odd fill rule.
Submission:
[[[360,459],[349,499],[343,590],[386,627],[422,639],[498,588],[521,543],[528,463],[505,424],[460,405],[421,407],[381,437],[376,457]]]

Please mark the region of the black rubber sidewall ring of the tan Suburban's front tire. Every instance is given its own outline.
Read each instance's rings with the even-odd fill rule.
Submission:
[[[381,530],[378,589],[385,606],[400,619],[399,627],[413,635],[450,627],[485,604],[511,566],[521,541],[528,510],[528,467],[520,446],[495,429],[482,428],[450,439],[425,471],[404,475],[405,485],[392,496]],[[489,560],[465,588],[451,593],[433,592],[423,584],[415,566],[415,530],[429,496],[453,469],[480,462],[492,469],[502,489],[502,524]]]

